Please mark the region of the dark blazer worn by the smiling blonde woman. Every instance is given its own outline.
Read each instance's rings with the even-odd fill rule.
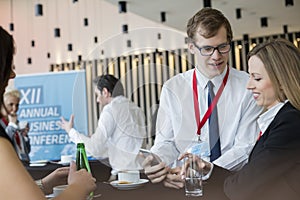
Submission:
[[[255,144],[249,162],[226,178],[232,200],[300,199],[300,111],[287,102]]]

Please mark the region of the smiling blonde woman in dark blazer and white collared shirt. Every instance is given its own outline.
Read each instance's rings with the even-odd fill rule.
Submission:
[[[225,181],[230,199],[300,199],[300,50],[276,39],[248,55],[252,91],[266,110],[249,162]]]

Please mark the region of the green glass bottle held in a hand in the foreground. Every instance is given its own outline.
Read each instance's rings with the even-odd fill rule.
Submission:
[[[89,160],[85,152],[84,143],[77,143],[76,166],[77,170],[86,169],[89,173],[92,173],[89,165]],[[92,199],[93,195],[94,193],[91,192],[89,199]]]

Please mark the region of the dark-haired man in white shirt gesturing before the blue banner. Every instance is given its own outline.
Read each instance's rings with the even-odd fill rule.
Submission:
[[[73,115],[69,121],[62,117],[61,126],[71,141],[83,142],[93,157],[108,158],[112,181],[118,171],[142,169],[137,155],[147,136],[145,116],[141,108],[124,96],[121,81],[113,75],[101,75],[94,83],[96,101],[102,107],[95,133],[86,136],[75,130]]]

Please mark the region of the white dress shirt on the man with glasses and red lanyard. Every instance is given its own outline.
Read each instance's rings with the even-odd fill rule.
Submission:
[[[227,69],[226,69],[227,70]],[[214,77],[217,93],[224,72]],[[208,79],[196,70],[200,118],[207,108]],[[197,140],[192,77],[194,69],[178,74],[168,80],[161,92],[156,124],[156,138],[151,151],[171,164],[184,153],[192,141]],[[246,89],[248,74],[230,68],[227,84],[219,98],[218,120],[222,155],[213,163],[229,170],[240,169],[248,160],[259,129],[256,120],[262,108],[256,105],[251,92]],[[202,141],[208,142],[208,121],[201,129]]]

